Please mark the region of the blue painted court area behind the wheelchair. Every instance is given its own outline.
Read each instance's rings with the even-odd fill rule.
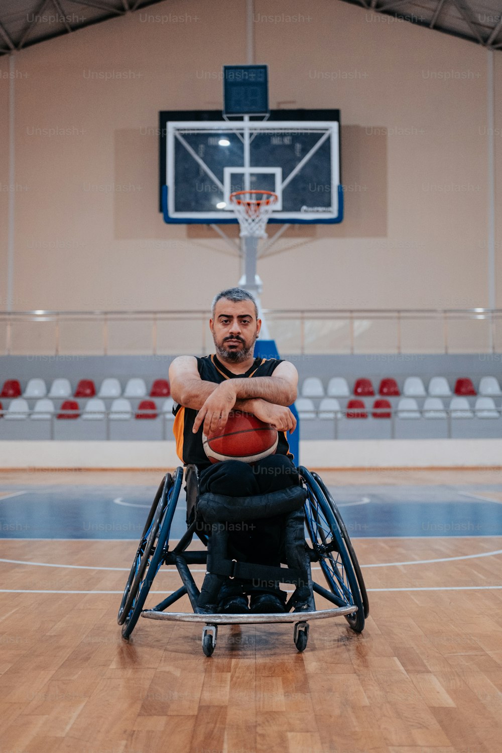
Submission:
[[[160,479],[159,479],[160,481]],[[154,486],[0,488],[1,538],[138,541]],[[330,486],[351,538],[502,535],[502,485]],[[172,526],[186,526],[181,492]]]

